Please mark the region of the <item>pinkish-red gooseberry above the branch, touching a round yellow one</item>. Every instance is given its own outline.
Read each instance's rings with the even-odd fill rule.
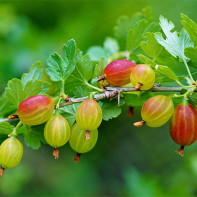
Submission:
[[[135,63],[126,59],[115,60],[106,66],[104,75],[110,85],[123,86],[130,82],[130,73],[135,66]]]

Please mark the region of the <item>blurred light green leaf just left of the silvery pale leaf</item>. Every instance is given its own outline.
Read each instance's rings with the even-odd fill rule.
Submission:
[[[130,29],[127,36],[127,50],[133,51],[140,46],[145,34],[149,31],[157,31],[157,23],[148,23],[146,20],[141,20],[136,23],[133,29]]]

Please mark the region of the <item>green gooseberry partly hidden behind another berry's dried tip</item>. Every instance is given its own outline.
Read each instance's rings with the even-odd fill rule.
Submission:
[[[92,130],[90,139],[84,140],[86,131],[75,123],[71,129],[69,144],[77,153],[87,153],[94,148],[98,139],[98,130]]]

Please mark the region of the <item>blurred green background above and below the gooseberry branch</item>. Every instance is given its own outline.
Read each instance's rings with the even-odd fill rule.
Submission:
[[[86,52],[113,37],[122,15],[132,16],[151,6],[180,29],[180,13],[197,21],[196,0],[68,0],[0,1],[0,92],[9,79],[20,77],[37,60],[46,59],[70,38]],[[99,140],[78,164],[69,145],[61,148],[59,161],[52,149],[25,147],[22,163],[0,179],[0,196],[196,196],[197,144],[185,157],[170,139],[168,124],[161,128],[135,129],[140,109],[99,128]]]

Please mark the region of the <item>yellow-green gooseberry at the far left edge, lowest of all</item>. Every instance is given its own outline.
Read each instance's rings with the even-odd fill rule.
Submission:
[[[0,146],[0,165],[2,168],[17,166],[23,157],[23,145],[14,136],[6,139]]]

